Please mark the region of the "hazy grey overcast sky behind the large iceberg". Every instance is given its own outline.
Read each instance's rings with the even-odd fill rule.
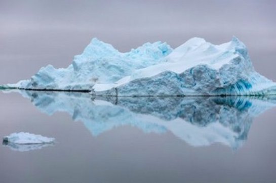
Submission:
[[[0,84],[28,79],[42,66],[67,67],[93,37],[128,52],[145,42],[172,48],[197,36],[233,35],[255,69],[276,81],[275,1],[6,1],[0,0]]]

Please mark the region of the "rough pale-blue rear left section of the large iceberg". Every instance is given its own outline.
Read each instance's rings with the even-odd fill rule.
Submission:
[[[145,43],[128,53],[120,53],[111,44],[93,38],[82,55],[74,57],[67,68],[43,67],[29,80],[9,87],[24,89],[92,90],[95,83],[114,83],[136,69],[164,62],[172,52],[171,47],[160,41]]]

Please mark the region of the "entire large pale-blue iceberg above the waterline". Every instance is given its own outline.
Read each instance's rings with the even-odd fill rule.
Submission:
[[[243,42],[214,45],[191,38],[176,49],[145,43],[128,53],[96,38],[68,68],[43,67],[29,80],[2,87],[91,91],[96,96],[212,96],[275,94],[257,73]]]

